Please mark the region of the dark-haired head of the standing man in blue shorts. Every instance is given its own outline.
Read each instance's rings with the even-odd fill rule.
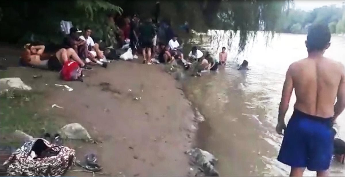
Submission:
[[[331,32],[327,25],[313,24],[308,28],[307,49],[308,52],[323,50],[331,41]]]

